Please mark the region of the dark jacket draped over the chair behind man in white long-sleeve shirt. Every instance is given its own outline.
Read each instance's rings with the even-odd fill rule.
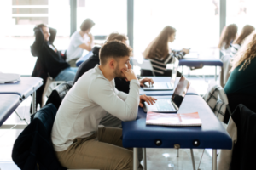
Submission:
[[[15,140],[12,158],[22,170],[66,170],[55,156],[50,139],[55,121],[55,105],[45,105]]]

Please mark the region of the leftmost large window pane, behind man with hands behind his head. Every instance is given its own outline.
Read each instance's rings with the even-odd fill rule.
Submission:
[[[61,16],[61,17],[60,17]],[[44,23],[57,29],[55,47],[67,49],[70,34],[69,0],[0,1],[0,71],[31,75],[36,57],[30,46],[34,26]]]

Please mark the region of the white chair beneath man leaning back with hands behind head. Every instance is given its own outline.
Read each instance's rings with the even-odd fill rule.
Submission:
[[[44,106],[44,104],[46,102],[45,98],[49,98],[49,95],[51,94],[53,89],[63,82],[65,82],[65,81],[54,81],[54,79],[52,77],[47,77],[47,80],[45,82],[44,92],[42,95],[42,104],[41,104],[42,107]]]

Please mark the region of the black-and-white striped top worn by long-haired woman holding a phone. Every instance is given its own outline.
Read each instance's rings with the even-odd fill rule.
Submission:
[[[174,51],[172,50],[172,53],[168,55],[168,57],[166,57],[166,59],[158,59],[158,58],[154,58],[154,59],[149,59],[151,61],[151,65],[153,66],[153,71],[160,73],[160,74],[164,74],[166,70],[166,65],[167,64],[172,64],[175,62],[175,59],[173,59],[174,57],[179,59],[183,59],[183,56],[185,55],[185,52],[183,51]]]

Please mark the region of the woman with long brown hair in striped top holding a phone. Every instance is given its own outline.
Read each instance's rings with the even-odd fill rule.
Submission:
[[[166,26],[143,52],[143,57],[151,61],[155,76],[170,77],[172,71],[167,71],[166,65],[173,63],[175,61],[174,58],[183,59],[183,56],[189,53],[189,49],[186,48],[181,51],[174,51],[169,48],[168,42],[173,42],[175,36],[176,29],[172,26]],[[142,70],[141,75],[152,76],[152,72]]]

